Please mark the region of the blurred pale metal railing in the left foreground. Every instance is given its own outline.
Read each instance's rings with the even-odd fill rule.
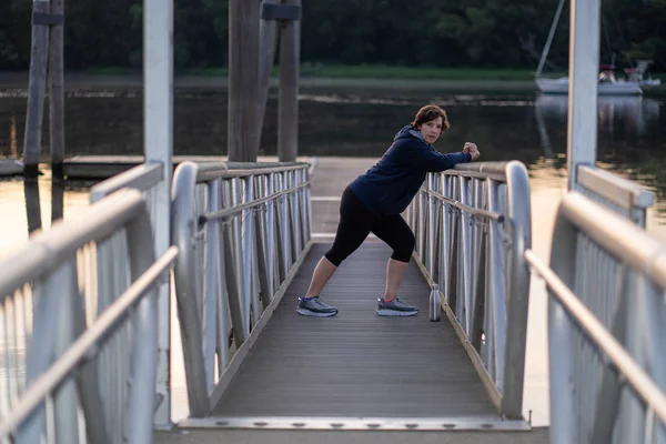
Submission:
[[[95,251],[114,236],[128,269]],[[0,442],[147,443],[152,436],[158,291],[178,255],[159,260],[141,194],[123,190],[33,234],[0,262]]]

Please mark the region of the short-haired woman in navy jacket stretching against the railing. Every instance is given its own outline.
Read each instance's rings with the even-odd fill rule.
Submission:
[[[317,263],[307,294],[299,297],[296,311],[307,316],[333,316],[337,309],[324,303],[320,293],[337,266],[373,232],[393,249],[386,265],[386,291],[376,313],[384,316],[412,316],[418,309],[397,296],[407,271],[414,233],[401,216],[425,180],[426,172],[444,171],[456,163],[471,162],[480,152],[465,143],[463,152],[440,154],[432,144],[448,130],[446,112],[428,104],[414,121],[397,132],[382,159],[347,185],[340,202],[340,222],[333,246]]]

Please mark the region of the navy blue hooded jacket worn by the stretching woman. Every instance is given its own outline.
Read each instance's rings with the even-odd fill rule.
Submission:
[[[438,153],[423,140],[418,130],[406,125],[395,134],[382,159],[354,179],[350,188],[374,214],[400,214],[418,192],[426,172],[440,172],[471,161],[470,153]]]

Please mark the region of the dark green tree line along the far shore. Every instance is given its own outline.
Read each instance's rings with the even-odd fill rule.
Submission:
[[[256,0],[259,1],[259,0]],[[558,0],[302,0],[301,59],[314,63],[534,69]],[[567,2],[568,3],[568,2]],[[666,0],[604,0],[603,63],[666,70]],[[31,0],[0,1],[0,69],[30,65]],[[176,70],[224,68],[224,0],[175,0]],[[566,70],[568,4],[547,70]],[[259,24],[258,24],[259,26]],[[65,69],[139,69],[142,1],[65,1]]]

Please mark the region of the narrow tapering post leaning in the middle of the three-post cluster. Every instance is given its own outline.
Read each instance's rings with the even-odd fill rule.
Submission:
[[[280,0],[263,0],[261,2],[261,27],[259,29],[259,107],[256,110],[256,122],[259,124],[259,137],[256,138],[258,150],[261,145],[261,132],[266,113],[266,102],[271,88],[271,72],[275,60],[278,47],[278,21],[275,12],[280,8]]]

